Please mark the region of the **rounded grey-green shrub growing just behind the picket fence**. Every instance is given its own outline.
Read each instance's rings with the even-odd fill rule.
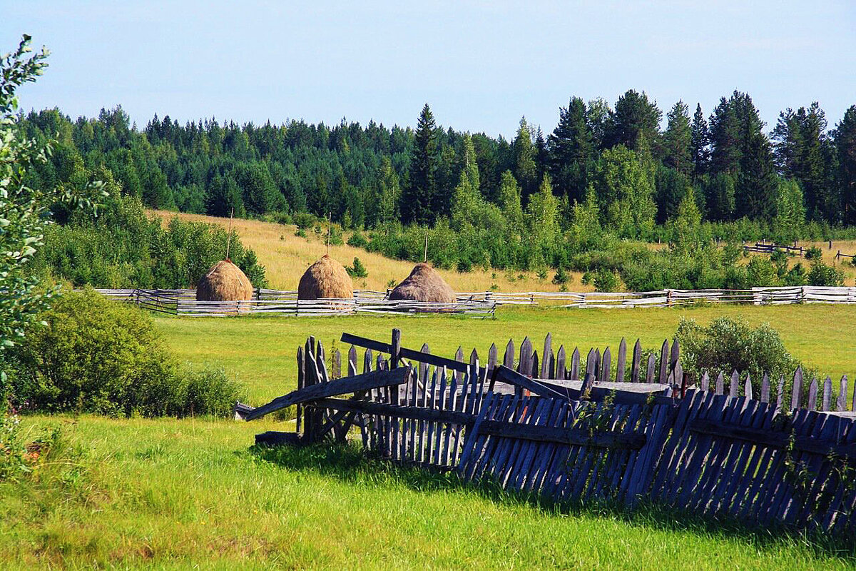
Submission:
[[[693,319],[681,318],[675,336],[681,343],[684,371],[697,379],[708,372],[712,382],[720,372],[728,377],[737,371],[742,383],[749,373],[753,389],[759,391],[765,372],[775,388],[782,376],[793,382],[794,371],[800,366],[770,324],[752,329],[741,319],[716,318],[703,327]]]

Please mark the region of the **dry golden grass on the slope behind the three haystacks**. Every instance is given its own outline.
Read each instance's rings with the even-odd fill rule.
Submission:
[[[179,217],[182,220],[195,220],[205,223],[220,224],[229,227],[229,218],[202,216],[199,214],[176,213],[171,211],[151,211],[152,214],[169,220]],[[268,283],[274,289],[297,289],[300,276],[327,251],[324,245],[324,235],[316,235],[312,230],[306,231],[307,238],[295,236],[297,227],[294,224],[277,224],[244,220],[235,218],[232,222],[241,241],[245,246],[252,247],[259,256],[259,263],[265,266]],[[347,235],[346,238],[347,240]],[[384,291],[394,288],[413,270],[413,262],[389,259],[379,253],[369,253],[366,250],[347,245],[330,246],[330,257],[342,265],[353,265],[354,257],[360,258],[366,266],[368,277],[355,278],[355,289],[374,289]],[[546,279],[540,280],[533,272],[521,271],[471,271],[461,273],[454,270],[438,270],[443,279],[456,292],[486,291],[496,284],[502,292],[513,291],[558,291],[559,286],[552,283],[553,271],[549,271]],[[582,274],[568,272],[572,281],[568,289],[572,291],[591,291],[591,286],[580,283]]]

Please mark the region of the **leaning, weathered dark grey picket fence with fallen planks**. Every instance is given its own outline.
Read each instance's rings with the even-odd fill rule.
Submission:
[[[722,377],[693,384],[681,372],[680,348],[668,342],[659,366],[634,355],[627,376],[623,367],[604,374],[609,349],[599,364],[590,351],[574,374],[552,354],[550,336],[540,367],[528,339],[519,359],[509,342],[502,362],[493,346],[484,366],[474,351],[464,362],[461,351],[448,359],[426,346],[404,348],[398,330],[389,343],[347,333],[342,342],[351,344],[343,377],[338,352],[328,367],[310,337],[297,354],[297,390],[263,407],[236,407],[256,419],[297,405],[294,433],[265,432],[258,443],[344,441],[357,431],[384,458],[562,502],[647,501],[764,525],[856,531],[856,414],[814,410],[817,398],[806,400],[796,380],[790,399],[782,386],[771,398],[769,379],[757,398],[751,388],[739,395],[736,374],[728,392]],[[356,347],[365,349],[359,374]],[[841,397],[836,404],[846,408]]]

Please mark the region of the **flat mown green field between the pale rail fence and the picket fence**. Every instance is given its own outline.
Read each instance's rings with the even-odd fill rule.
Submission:
[[[393,327],[401,329],[405,347],[419,348],[427,342],[435,354],[453,356],[476,348],[483,359],[491,342],[500,354],[508,338],[516,346],[530,336],[538,353],[548,332],[553,348],[565,344],[568,354],[591,347],[617,352],[621,336],[628,346],[637,337],[644,347],[659,348],[671,339],[681,317],[707,323],[720,315],[742,317],[751,324],[769,322],[786,347],[806,365],[816,366],[835,380],[856,373],[856,306],[708,306],[675,309],[544,309],[504,307],[496,319],[419,316],[389,318],[356,316],[344,318],[158,318],[169,346],[182,359],[193,363],[217,362],[246,384],[253,404],[260,404],[294,388],[295,352],[306,336],[314,335],[326,348],[344,350],[342,331],[374,339],[389,339]],[[628,348],[630,348],[628,347]],[[361,355],[361,353],[360,353]]]

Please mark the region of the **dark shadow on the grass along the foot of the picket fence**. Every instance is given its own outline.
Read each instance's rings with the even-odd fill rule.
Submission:
[[[310,471],[357,485],[403,485],[421,492],[461,491],[509,506],[525,505],[545,514],[590,515],[620,520],[629,526],[690,532],[710,538],[740,538],[753,548],[764,550],[800,545],[815,556],[835,556],[856,562],[856,540],[850,537],[831,538],[829,534],[783,526],[760,528],[738,520],[698,516],[655,503],[639,503],[633,510],[609,501],[556,503],[534,493],[503,490],[492,480],[465,482],[455,471],[385,461],[367,455],[354,443],[321,443],[306,447],[257,445],[250,448],[250,453],[261,461],[289,470]]]

